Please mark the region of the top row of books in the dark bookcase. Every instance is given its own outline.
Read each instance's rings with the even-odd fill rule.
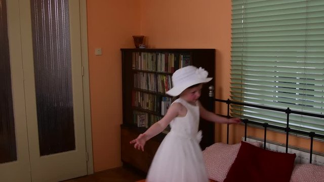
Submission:
[[[132,54],[132,68],[138,70],[173,73],[191,63],[190,54],[146,52]]]

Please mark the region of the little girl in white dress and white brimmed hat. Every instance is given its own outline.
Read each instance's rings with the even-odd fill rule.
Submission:
[[[208,176],[199,147],[199,117],[219,123],[239,123],[239,118],[225,118],[206,110],[198,101],[203,83],[209,82],[203,68],[186,66],[172,75],[173,88],[167,94],[180,96],[167,114],[130,143],[144,151],[146,141],[163,131],[171,130],[161,142],[147,174],[147,182],[205,182]]]

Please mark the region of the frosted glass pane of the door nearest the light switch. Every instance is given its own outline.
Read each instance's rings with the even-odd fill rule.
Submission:
[[[41,156],[75,149],[68,1],[31,1]]]

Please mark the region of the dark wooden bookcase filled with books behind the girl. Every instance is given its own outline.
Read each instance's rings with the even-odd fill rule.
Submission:
[[[172,73],[193,65],[215,77],[215,49],[121,49],[123,76],[123,124],[121,124],[121,160],[144,172],[148,171],[154,154],[170,127],[150,139],[144,152],[134,149],[129,142],[158,121],[176,99],[165,93],[172,87]],[[208,107],[208,87],[201,90],[200,102]],[[203,130],[201,149],[214,143],[214,123],[200,119]]]

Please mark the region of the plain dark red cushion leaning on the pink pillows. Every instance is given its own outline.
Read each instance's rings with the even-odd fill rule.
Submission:
[[[224,182],[287,181],[289,182],[296,154],[264,150],[241,142],[237,157]]]

